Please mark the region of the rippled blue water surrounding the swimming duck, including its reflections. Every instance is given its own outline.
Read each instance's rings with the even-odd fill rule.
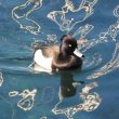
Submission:
[[[85,38],[82,70],[31,70],[64,34]],[[0,0],[0,119],[118,119],[118,0]]]

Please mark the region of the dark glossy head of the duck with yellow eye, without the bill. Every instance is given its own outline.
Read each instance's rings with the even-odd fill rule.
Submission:
[[[61,41],[60,52],[64,55],[71,55],[78,47],[76,39],[69,35],[64,35]]]

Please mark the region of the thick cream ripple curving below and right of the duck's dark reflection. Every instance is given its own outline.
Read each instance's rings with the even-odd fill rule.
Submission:
[[[85,110],[85,111],[95,110],[100,106],[102,98],[96,92],[90,93],[90,90],[92,90],[96,87],[97,87],[97,83],[92,82],[90,84],[87,84],[82,89],[82,92],[79,93],[79,97],[82,100],[81,104],[61,109],[57,106],[63,102],[63,100],[60,100],[60,102],[55,105],[55,107],[52,109],[52,111],[55,115],[64,114],[67,116],[68,119],[74,119],[72,116],[76,113],[79,113],[82,110]],[[60,95],[60,96],[62,96],[62,95]],[[62,98],[62,97],[60,97],[60,98]]]

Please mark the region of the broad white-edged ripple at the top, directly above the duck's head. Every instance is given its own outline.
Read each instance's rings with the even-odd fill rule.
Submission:
[[[79,3],[78,9],[75,8],[74,2],[71,0],[65,0],[65,5],[62,6],[61,11],[53,11],[48,14],[48,17],[52,19],[62,31],[70,31],[77,24],[82,23],[89,16],[93,14],[93,6],[97,3],[97,0],[82,0]],[[78,19],[70,18],[68,19],[67,15],[69,13],[78,13],[81,14],[84,12],[83,17],[79,17]]]

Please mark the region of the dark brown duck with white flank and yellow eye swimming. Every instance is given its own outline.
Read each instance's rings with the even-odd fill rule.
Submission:
[[[56,71],[81,69],[84,55],[78,50],[77,40],[63,35],[60,45],[37,48],[34,53],[34,70]]]

